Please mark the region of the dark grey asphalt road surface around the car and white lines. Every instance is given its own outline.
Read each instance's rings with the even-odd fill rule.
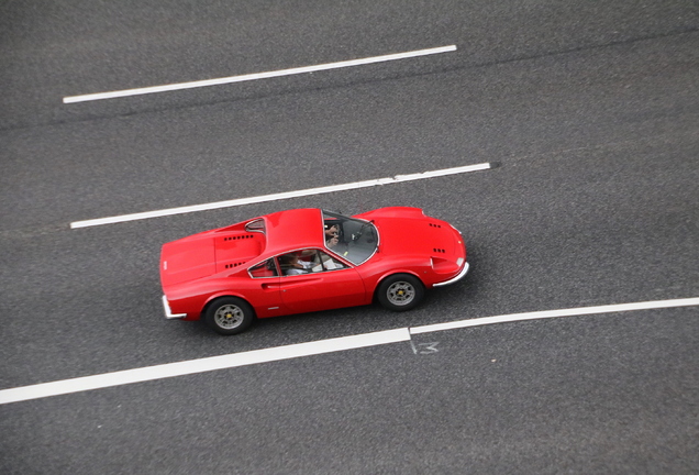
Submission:
[[[332,3],[0,2],[0,395],[391,329],[699,297],[695,1]],[[70,228],[480,163],[492,167]],[[233,338],[163,318],[164,242],[281,209],[385,206],[462,230],[469,275],[408,313],[281,317]],[[426,332],[0,405],[2,474],[697,472],[696,305]]]

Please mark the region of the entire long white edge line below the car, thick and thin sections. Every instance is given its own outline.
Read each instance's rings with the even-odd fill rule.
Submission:
[[[168,363],[144,368],[126,369],[95,376],[85,376],[73,379],[43,383],[32,386],[22,386],[0,390],[0,405],[19,402],[30,399],[40,399],[49,396],[65,395],[91,389],[100,389],[112,386],[121,386],[146,380],[163,379],[188,374],[204,373],[215,369],[246,366],[258,363],[267,363],[281,360],[290,360],[301,356],[310,356],[323,353],[333,353],[344,350],[376,346],[388,343],[410,341],[411,334],[428,333],[442,330],[454,330],[466,327],[478,327],[492,323],[506,323],[523,320],[548,319],[557,317],[587,316],[596,313],[623,312],[632,310],[648,310],[659,308],[699,306],[699,297],[655,300],[635,303],[620,303],[599,307],[580,307],[565,310],[545,310],[526,313],[512,313],[499,317],[486,317],[473,320],[437,323],[411,329],[400,328],[374,333],[364,333],[351,336],[341,336],[308,343],[298,343],[286,346],[254,350],[243,353],[233,353],[222,356],[212,356],[201,360],[190,360],[178,363]]]

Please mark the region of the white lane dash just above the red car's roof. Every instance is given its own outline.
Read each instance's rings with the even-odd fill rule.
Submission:
[[[424,173],[412,174],[412,175],[397,175],[392,178],[378,178],[378,179],[371,179],[366,181],[355,181],[355,183],[348,183],[343,185],[331,185],[331,186],[325,186],[320,188],[308,188],[308,189],[297,190],[297,191],[286,191],[286,192],[263,195],[263,196],[249,197],[249,198],[238,198],[238,199],[233,199],[228,201],[217,201],[217,202],[204,203],[204,205],[193,205],[193,206],[169,208],[169,209],[157,210],[157,211],[146,211],[146,212],[138,212],[133,214],[122,214],[122,216],[115,216],[110,218],[98,218],[98,219],[91,219],[91,220],[85,220],[85,221],[75,221],[70,223],[70,229],[89,228],[89,227],[96,227],[96,225],[102,225],[102,224],[113,224],[113,223],[125,222],[125,221],[136,221],[136,220],[149,219],[149,218],[171,216],[171,214],[182,214],[182,213],[195,212],[195,211],[206,211],[206,210],[212,210],[212,209],[219,209],[219,208],[230,208],[230,207],[236,207],[236,206],[243,206],[243,205],[259,203],[265,201],[277,201],[282,199],[299,198],[299,197],[311,196],[311,195],[323,195],[323,194],[329,194],[334,191],[344,191],[344,190],[367,188],[367,187],[379,186],[379,185],[412,181],[412,180],[419,180],[419,179],[425,179],[425,178],[441,177],[446,175],[465,174],[469,172],[484,170],[488,168],[490,168],[489,163],[478,164],[478,165],[467,165],[467,166],[461,166],[455,168],[445,168],[441,170],[424,172]]]

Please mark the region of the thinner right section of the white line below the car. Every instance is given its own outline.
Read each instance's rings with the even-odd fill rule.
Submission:
[[[579,307],[564,310],[544,310],[544,311],[534,311],[534,312],[525,312],[525,313],[511,313],[506,316],[498,317],[486,317],[470,320],[458,320],[446,323],[434,323],[422,327],[413,327],[410,329],[410,334],[419,334],[419,333],[430,333],[442,330],[454,330],[462,329],[467,327],[481,327],[493,323],[508,323],[508,322],[517,322],[524,320],[541,320],[541,319],[550,319],[550,318],[559,318],[559,317],[576,317],[576,316],[588,316],[588,314],[597,314],[597,313],[612,313],[612,312],[624,312],[632,310],[650,310],[650,309],[658,309],[658,308],[673,308],[673,307],[691,307],[699,305],[699,297],[696,298],[686,298],[686,299],[675,299],[675,300],[655,300],[655,301],[645,301],[645,302],[635,302],[635,303],[619,303],[619,305],[609,305],[609,306],[598,306],[598,307]]]

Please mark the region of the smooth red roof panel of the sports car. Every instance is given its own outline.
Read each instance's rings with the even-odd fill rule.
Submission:
[[[279,211],[264,217],[267,247],[274,255],[292,248],[323,246],[323,214],[318,208]]]

